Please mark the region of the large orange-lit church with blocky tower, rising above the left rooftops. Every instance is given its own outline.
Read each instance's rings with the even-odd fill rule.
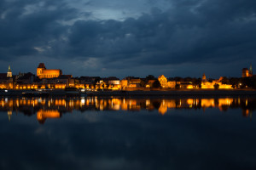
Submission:
[[[60,77],[62,75],[62,71],[57,70],[47,70],[44,63],[40,63],[37,68],[37,76],[42,78],[55,78]]]

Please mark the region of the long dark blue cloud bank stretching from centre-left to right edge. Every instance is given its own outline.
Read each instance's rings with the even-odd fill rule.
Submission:
[[[180,7],[166,12],[153,10],[136,20],[79,20],[72,26],[69,47],[84,57],[128,57],[137,58],[140,64],[160,65],[213,62],[224,57],[236,57],[237,51],[246,54],[253,50],[254,20],[241,20],[236,13],[232,20],[230,17],[219,18],[217,13],[207,16],[207,11],[212,10],[209,2],[194,8],[194,12],[189,10],[191,6],[186,1],[182,4],[186,4],[182,11],[178,10]],[[222,8],[221,3],[216,5]],[[247,15],[250,14],[248,10]],[[253,57],[253,53],[248,57]]]

